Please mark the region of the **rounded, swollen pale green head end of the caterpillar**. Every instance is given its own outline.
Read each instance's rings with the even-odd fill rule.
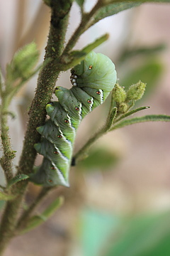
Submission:
[[[93,51],[86,55],[79,65],[72,68],[71,73],[72,85],[106,90],[106,92],[111,92],[117,79],[115,65],[111,59]]]

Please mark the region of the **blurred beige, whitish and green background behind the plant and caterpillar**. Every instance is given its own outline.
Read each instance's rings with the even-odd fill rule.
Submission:
[[[86,1],[86,10],[94,1]],[[125,87],[147,82],[138,106],[144,114],[170,114],[170,4],[143,4],[105,18],[86,31],[75,48],[81,49],[104,33],[110,37],[96,48],[115,63],[118,82]],[[73,4],[67,39],[80,19]],[[43,60],[50,9],[41,0],[0,0],[0,65],[26,43],[38,44]],[[10,119],[14,164],[21,154],[28,108],[37,77],[31,79],[13,100]],[[71,87],[69,72],[57,85]],[[55,97],[54,97],[54,100]],[[109,99],[81,123],[74,146],[77,152],[107,116]],[[58,188],[45,201],[62,194],[65,203],[39,228],[13,239],[4,256],[142,256],[170,255],[170,124],[135,124],[103,136],[89,157],[71,169],[70,188]],[[36,164],[40,164],[38,157]],[[0,172],[0,183],[4,177]],[[30,203],[40,188],[30,184]],[[0,202],[3,208],[3,202]],[[38,213],[38,212],[37,212]]]

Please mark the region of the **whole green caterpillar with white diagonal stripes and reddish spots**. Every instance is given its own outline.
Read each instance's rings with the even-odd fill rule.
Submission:
[[[115,65],[101,53],[89,53],[71,73],[72,88],[55,88],[58,102],[47,104],[50,119],[37,128],[41,141],[35,149],[44,159],[30,179],[43,186],[69,186],[72,149],[81,119],[106,100],[116,82]]]

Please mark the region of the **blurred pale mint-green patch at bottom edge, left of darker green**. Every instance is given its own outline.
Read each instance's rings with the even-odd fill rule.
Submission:
[[[80,238],[83,255],[101,255],[103,245],[106,245],[119,222],[120,220],[116,216],[106,211],[84,210],[80,219]]]

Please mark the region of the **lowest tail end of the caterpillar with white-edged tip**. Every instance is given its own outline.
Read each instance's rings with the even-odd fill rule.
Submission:
[[[43,165],[34,166],[33,174],[30,174],[30,181],[44,187],[52,187],[52,186],[65,186],[69,188],[69,181],[67,178],[59,177],[56,173],[52,173],[47,170],[42,171],[44,169]]]

